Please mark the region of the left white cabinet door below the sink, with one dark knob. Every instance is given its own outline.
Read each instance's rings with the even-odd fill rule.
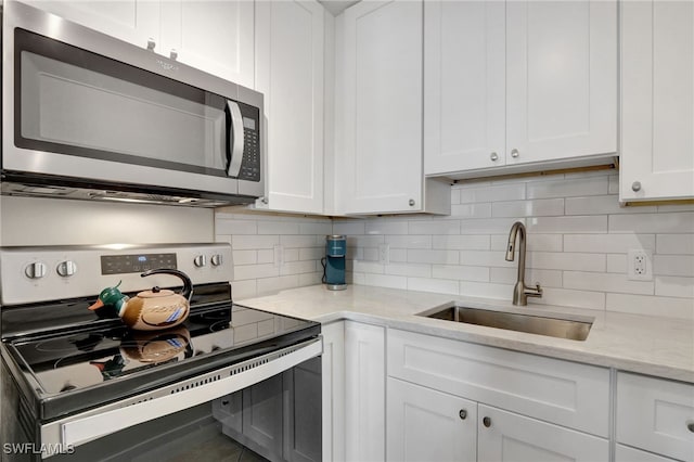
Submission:
[[[477,403],[388,377],[386,460],[477,459]]]

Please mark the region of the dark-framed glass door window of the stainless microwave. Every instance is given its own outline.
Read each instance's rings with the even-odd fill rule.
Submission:
[[[20,147],[224,177],[244,144],[233,127],[244,131],[258,117],[255,107],[23,29],[15,56]]]

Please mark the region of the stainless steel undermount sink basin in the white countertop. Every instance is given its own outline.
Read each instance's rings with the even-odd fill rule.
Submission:
[[[593,325],[593,320],[584,317],[567,319],[567,317],[557,315],[554,318],[547,315],[494,311],[455,305],[445,308],[438,307],[419,313],[419,316],[571,341],[584,341]]]

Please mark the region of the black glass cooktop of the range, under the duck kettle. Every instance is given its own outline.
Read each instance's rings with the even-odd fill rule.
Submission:
[[[231,319],[231,321],[230,321]],[[165,331],[123,324],[5,338],[36,416],[50,420],[244,361],[320,334],[320,324],[236,305],[192,311]]]

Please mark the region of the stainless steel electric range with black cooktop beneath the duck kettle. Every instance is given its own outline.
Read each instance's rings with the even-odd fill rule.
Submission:
[[[320,324],[234,305],[231,257],[1,248],[2,460],[320,460]],[[162,267],[193,281],[184,323],[136,331],[88,309],[119,282],[130,296],[180,283],[140,277]]]

